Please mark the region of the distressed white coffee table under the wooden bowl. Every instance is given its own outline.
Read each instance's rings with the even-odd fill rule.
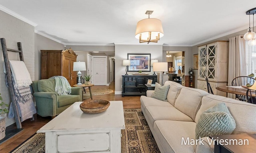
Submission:
[[[37,133],[45,133],[46,153],[121,153],[125,129],[122,101],[110,101],[100,114],[85,114],[75,102]]]

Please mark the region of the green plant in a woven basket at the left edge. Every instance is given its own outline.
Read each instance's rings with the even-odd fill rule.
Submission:
[[[2,101],[3,98],[1,96],[1,93],[0,93],[0,100]],[[9,105],[4,103],[4,102],[1,102],[0,103],[0,140],[3,139],[5,137],[5,115],[6,113],[9,112],[9,110],[7,109]],[[2,116],[2,114],[4,114],[4,116]]]

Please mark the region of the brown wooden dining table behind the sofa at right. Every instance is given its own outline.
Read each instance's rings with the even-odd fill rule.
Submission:
[[[248,88],[242,86],[217,86],[216,89],[232,94],[240,94],[246,96],[246,91]],[[252,96],[256,96],[254,90],[252,90]]]

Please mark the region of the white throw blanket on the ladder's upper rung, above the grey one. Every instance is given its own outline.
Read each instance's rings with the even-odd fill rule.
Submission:
[[[28,69],[23,61],[10,61],[14,87],[29,86],[32,83]],[[4,73],[6,73],[4,64]]]

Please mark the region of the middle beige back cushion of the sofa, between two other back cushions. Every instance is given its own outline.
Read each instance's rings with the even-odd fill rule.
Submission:
[[[201,106],[201,99],[206,95],[209,95],[209,93],[204,90],[183,87],[174,107],[195,120],[196,113]]]

